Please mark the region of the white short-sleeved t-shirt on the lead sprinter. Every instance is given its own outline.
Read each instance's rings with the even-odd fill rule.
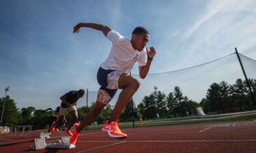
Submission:
[[[109,31],[106,37],[112,41],[112,48],[106,61],[100,65],[102,69],[119,70],[129,73],[135,62],[138,62],[139,66],[146,65],[147,51],[145,48],[141,52],[134,50],[130,39],[114,30]]]

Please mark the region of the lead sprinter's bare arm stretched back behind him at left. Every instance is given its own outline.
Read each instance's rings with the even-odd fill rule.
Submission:
[[[76,26],[74,27],[74,31],[73,33],[79,33],[79,31],[81,31],[81,27],[87,27],[87,28],[91,28],[91,29],[96,29],[98,31],[102,31],[102,33],[104,33],[104,35],[106,36],[109,31],[111,31],[111,29],[103,24],[96,24],[96,23],[79,23],[76,24]]]

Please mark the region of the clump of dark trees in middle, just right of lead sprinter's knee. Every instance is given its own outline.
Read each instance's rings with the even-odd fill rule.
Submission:
[[[173,92],[170,92],[168,96],[155,87],[150,96],[145,96],[142,99],[138,108],[143,119],[147,119],[156,118],[156,114],[159,114],[160,118],[197,114],[196,107],[198,106],[198,103],[183,96],[180,87],[175,86]]]

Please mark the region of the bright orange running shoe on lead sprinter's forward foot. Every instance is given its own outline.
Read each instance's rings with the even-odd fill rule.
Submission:
[[[106,126],[104,124],[102,131],[106,131],[106,133],[108,133],[109,137],[114,137],[114,138],[126,138],[127,137],[126,133],[122,133],[122,131],[120,131],[117,122],[111,122],[111,124],[108,124]]]

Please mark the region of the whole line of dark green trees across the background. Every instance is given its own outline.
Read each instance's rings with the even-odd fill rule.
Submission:
[[[253,94],[256,95],[256,80],[249,79],[248,81],[251,84]],[[3,109],[3,101],[4,98],[0,98],[0,111]],[[94,107],[94,102],[89,107],[83,106],[77,109],[80,121],[92,107]],[[155,86],[154,91],[143,97],[139,105],[136,106],[131,100],[120,115],[119,121],[130,121],[132,116],[134,120],[193,116],[197,115],[197,107],[203,107],[203,110],[208,114],[226,113],[254,109],[255,103],[253,103],[246,82],[242,79],[236,80],[235,84],[227,84],[224,81],[214,82],[200,103],[188,99],[178,86],[175,86],[173,91],[168,94],[161,92]],[[100,124],[108,120],[112,110],[113,107],[107,105],[96,118],[96,121]],[[18,109],[14,99],[7,96],[3,124],[8,126],[33,124],[33,129],[43,129],[46,124],[51,124],[51,115],[51,112],[44,112],[42,109],[35,109],[35,107]],[[67,115],[66,118],[70,120],[70,116]]]

